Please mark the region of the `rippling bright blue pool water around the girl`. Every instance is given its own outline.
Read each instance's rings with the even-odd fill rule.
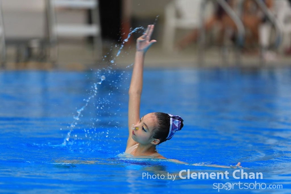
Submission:
[[[163,156],[242,162],[244,172],[262,179],[236,179],[237,169],[125,158],[130,70],[0,72],[0,193],[218,193],[228,184],[219,193],[291,193],[291,68],[145,71],[141,114],[184,119],[184,128],[159,146]],[[229,175],[178,179],[188,169]],[[154,179],[158,174],[165,178]]]

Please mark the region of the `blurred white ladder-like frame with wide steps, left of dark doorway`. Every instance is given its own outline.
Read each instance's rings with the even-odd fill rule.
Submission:
[[[50,60],[56,63],[58,58],[58,37],[93,36],[93,55],[98,61],[102,56],[101,24],[99,18],[99,0],[46,0],[49,23]],[[86,9],[91,11],[92,24],[70,25],[57,22],[56,8]],[[53,50],[53,51],[52,51]],[[52,54],[53,53],[53,54]],[[54,55],[54,56],[52,56]]]

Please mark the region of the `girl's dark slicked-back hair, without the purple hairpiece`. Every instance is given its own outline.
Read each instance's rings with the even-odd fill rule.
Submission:
[[[170,131],[170,116],[167,113],[160,112],[156,112],[154,115],[157,117],[158,126],[152,131],[152,137],[159,139],[159,144],[162,144],[167,141],[166,138],[168,137]],[[181,121],[181,129],[183,126],[183,122]]]

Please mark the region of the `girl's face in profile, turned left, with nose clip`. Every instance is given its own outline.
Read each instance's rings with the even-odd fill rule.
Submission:
[[[132,129],[132,139],[140,144],[150,144],[154,138],[151,132],[157,127],[157,118],[154,113],[148,113],[143,116]]]

